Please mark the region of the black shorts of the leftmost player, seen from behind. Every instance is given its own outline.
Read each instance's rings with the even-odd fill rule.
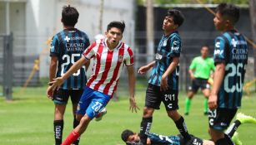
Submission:
[[[70,96],[72,104],[78,104],[83,94],[83,89],[58,89],[53,94],[54,104],[68,104]]]

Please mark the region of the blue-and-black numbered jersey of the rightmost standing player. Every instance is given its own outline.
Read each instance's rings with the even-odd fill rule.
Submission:
[[[225,64],[223,83],[218,92],[218,107],[238,109],[243,95],[243,80],[248,46],[238,31],[225,31],[215,39],[214,63]]]

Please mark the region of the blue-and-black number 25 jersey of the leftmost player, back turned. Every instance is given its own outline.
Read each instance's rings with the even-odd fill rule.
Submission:
[[[56,77],[65,74],[68,69],[81,58],[83,51],[90,45],[88,35],[76,28],[64,29],[53,36],[50,56],[58,57]],[[61,89],[83,89],[87,77],[85,66],[68,77],[61,85]]]

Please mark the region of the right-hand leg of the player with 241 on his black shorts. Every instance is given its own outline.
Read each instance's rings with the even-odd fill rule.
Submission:
[[[187,125],[183,116],[178,114],[178,90],[168,89],[164,91],[161,97],[163,104],[165,105],[165,109],[167,111],[168,117],[172,118],[176,127],[178,128],[179,133],[183,136],[185,142],[191,139],[188,134]]]

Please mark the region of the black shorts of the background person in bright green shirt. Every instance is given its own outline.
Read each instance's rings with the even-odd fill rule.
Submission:
[[[192,86],[188,87],[188,90],[197,93],[198,89],[210,89],[210,85],[208,84],[208,79],[196,78],[192,80]]]

